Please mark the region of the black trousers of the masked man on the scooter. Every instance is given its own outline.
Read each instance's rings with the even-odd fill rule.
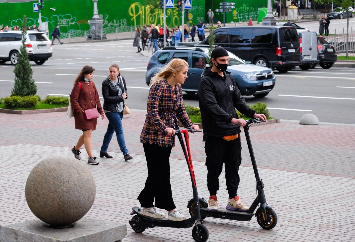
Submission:
[[[226,141],[222,137],[209,135],[204,146],[207,166],[207,188],[209,195],[217,195],[219,190],[219,175],[222,172],[223,163],[225,182],[228,195],[234,198],[239,186],[239,166],[241,164],[240,135],[235,140]]]

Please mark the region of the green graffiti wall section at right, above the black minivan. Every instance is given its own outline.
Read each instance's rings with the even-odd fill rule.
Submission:
[[[216,9],[219,9],[221,0],[217,1],[206,1],[206,12],[208,9],[211,9],[214,12],[214,18],[217,21],[223,23],[223,12],[216,12]],[[232,9],[231,12],[225,13],[225,22],[245,22],[249,21],[249,18],[252,20],[257,20],[259,9],[262,7],[267,7],[267,0],[226,0],[226,2],[234,2],[235,9]],[[205,15],[206,19],[207,14]]]

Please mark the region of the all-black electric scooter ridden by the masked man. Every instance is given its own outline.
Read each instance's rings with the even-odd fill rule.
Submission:
[[[255,156],[253,152],[253,147],[251,146],[251,140],[249,136],[249,126],[253,123],[260,123],[259,118],[253,118],[247,120],[247,124],[244,126],[244,133],[245,138],[248,144],[251,163],[253,165],[253,170],[256,178],[256,189],[258,191],[257,197],[255,198],[254,202],[250,206],[249,210],[246,212],[239,212],[235,210],[227,210],[225,208],[218,208],[218,211],[208,211],[207,206],[208,203],[203,198],[199,198],[200,200],[200,214],[201,219],[205,219],[206,217],[215,217],[220,219],[231,219],[231,220],[239,220],[239,221],[249,221],[252,219],[253,216],[256,216],[256,220],[260,227],[271,230],[277,224],[277,215],[275,211],[272,209],[270,205],[266,203],[266,198],[264,194],[264,184],[262,179],[259,177],[258,168],[256,166]],[[255,209],[260,203],[260,207],[256,210]],[[191,216],[194,216],[195,210],[198,209],[198,203],[195,202],[195,198],[191,199],[187,204],[187,208],[189,208],[189,213]]]

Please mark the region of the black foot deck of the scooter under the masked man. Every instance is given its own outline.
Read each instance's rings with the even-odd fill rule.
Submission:
[[[218,208],[218,211],[208,211],[207,208],[201,208],[200,211],[201,216],[238,221],[249,221],[255,215],[255,213],[239,212],[236,210],[227,210],[225,208]]]

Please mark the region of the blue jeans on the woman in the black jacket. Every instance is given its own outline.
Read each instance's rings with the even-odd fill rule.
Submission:
[[[122,118],[123,113],[114,113],[107,112],[105,113],[107,119],[109,120],[109,125],[107,126],[107,131],[104,136],[104,141],[102,141],[101,152],[107,152],[107,148],[109,147],[110,141],[112,139],[113,133],[116,131],[116,137],[118,145],[120,146],[121,152],[123,155],[128,154],[128,150],[126,148],[125,138],[123,136],[123,128],[122,128]]]

